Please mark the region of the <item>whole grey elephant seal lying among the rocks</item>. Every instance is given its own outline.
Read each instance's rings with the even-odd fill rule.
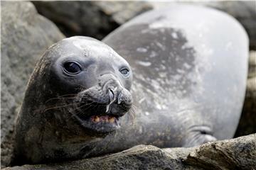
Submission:
[[[33,163],[56,162],[119,152],[134,145],[193,147],[233,137],[245,97],[248,57],[247,35],[234,18],[211,8],[176,4],[143,13],[114,30],[103,42],[124,57],[132,70],[120,57],[113,60],[110,53],[117,55],[110,48],[102,52],[99,42],[91,49],[87,47],[89,42],[84,47],[64,40],[50,47],[38,62],[18,118],[16,141],[20,157]],[[81,67],[92,69],[91,74],[82,74],[78,79],[60,78],[61,69],[50,71],[55,68],[54,63],[58,64],[58,58],[62,61],[65,56],[79,57],[82,52],[98,61],[80,57],[87,61]],[[109,74],[113,72],[114,76]],[[133,72],[133,80],[123,75],[127,72]],[[42,115],[41,111],[50,107],[46,107],[48,100],[54,104],[56,96],[74,94],[82,102],[79,95],[83,89],[96,91],[97,86],[104,86],[100,82],[110,77],[114,87],[126,89],[122,96],[127,98],[127,106],[132,81],[134,121],[123,116],[119,118],[120,128],[105,132],[100,126],[73,121],[68,113],[73,112],[72,108],[64,107],[58,112],[50,109]],[[113,98],[118,104],[114,92],[109,91],[107,96],[98,98],[105,105],[99,110],[91,108],[90,114],[105,113]],[[73,96],[69,97],[73,100]],[[68,101],[60,101],[65,102],[68,106]],[[123,115],[128,108],[112,111],[120,109]],[[92,120],[97,121],[97,117]]]

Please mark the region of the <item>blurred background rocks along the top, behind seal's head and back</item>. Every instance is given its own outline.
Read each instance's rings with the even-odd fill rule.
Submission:
[[[38,12],[56,23],[65,35],[100,40],[139,13],[174,3],[210,6],[229,13],[245,27],[250,48],[256,50],[255,1],[33,1]]]

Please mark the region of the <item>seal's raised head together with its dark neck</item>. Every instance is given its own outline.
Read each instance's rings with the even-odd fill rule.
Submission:
[[[132,107],[131,86],[129,64],[104,43],[76,36],[52,45],[18,113],[14,164],[84,156],[90,142],[120,127]]]

